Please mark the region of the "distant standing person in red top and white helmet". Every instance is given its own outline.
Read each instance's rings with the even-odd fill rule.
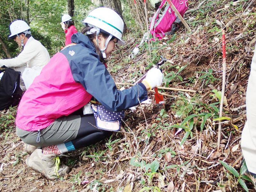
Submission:
[[[67,46],[68,44],[71,44],[71,36],[74,33],[77,33],[77,30],[76,30],[76,27],[74,26],[72,18],[68,14],[64,14],[61,17],[61,23],[60,24],[61,24],[61,27],[63,28],[63,30],[66,34],[65,35],[66,36],[65,46]]]

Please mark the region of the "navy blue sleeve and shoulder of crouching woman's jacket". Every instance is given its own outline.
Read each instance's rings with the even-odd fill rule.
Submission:
[[[139,100],[141,102],[148,99],[144,84],[134,85],[123,91],[117,90],[112,76],[95,52],[78,51],[76,57],[67,58],[74,80],[80,82],[85,90],[105,107],[121,111],[138,105]]]

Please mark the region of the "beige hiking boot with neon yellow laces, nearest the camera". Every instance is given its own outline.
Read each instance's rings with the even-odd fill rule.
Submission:
[[[55,180],[68,172],[68,166],[57,164],[58,174],[56,174],[55,159],[59,161],[59,156],[43,154],[42,149],[38,148],[26,159],[26,164],[31,169],[42,173],[47,179]]]

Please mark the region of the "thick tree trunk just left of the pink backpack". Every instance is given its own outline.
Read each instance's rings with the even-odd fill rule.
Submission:
[[[136,4],[134,4],[134,1],[136,1]],[[136,21],[138,28],[141,30],[144,30],[147,28],[147,23],[146,23],[146,16],[145,16],[145,9],[144,9],[144,1],[143,0],[127,0],[132,16],[134,20]],[[147,5],[147,11],[153,11],[154,8],[151,5],[150,1],[146,1]],[[148,15],[148,18],[151,15]]]

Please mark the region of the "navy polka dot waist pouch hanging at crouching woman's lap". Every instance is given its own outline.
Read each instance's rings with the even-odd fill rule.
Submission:
[[[121,121],[124,118],[124,111],[115,112],[102,105],[91,105],[96,125],[99,129],[107,131],[119,131]]]

